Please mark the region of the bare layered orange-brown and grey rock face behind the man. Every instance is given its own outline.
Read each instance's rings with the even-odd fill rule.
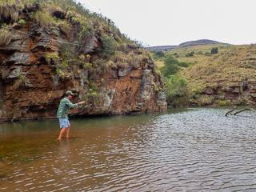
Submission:
[[[60,49],[75,37],[75,23],[65,34],[60,27],[49,30],[30,22],[26,13],[19,17],[26,24],[13,28],[10,43],[0,47],[0,121],[56,118],[66,90],[76,94],[71,102],[86,101],[77,110],[70,110],[74,116],[166,110],[162,81],[150,58],[132,66],[111,66],[110,62],[99,67],[95,61],[102,42],[95,35],[86,38],[82,50],[91,66],[67,64],[70,75],[63,74],[58,68]],[[141,54],[138,47],[127,46],[127,50]]]

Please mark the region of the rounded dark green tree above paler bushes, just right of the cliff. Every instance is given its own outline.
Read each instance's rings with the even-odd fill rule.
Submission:
[[[178,64],[179,62],[177,59],[173,58],[172,56],[167,57],[164,60],[164,66],[162,66],[160,69],[161,73],[166,77],[175,74],[179,70]]]

